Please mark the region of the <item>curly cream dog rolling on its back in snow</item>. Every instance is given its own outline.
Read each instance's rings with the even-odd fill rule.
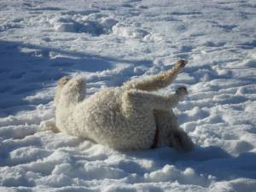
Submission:
[[[53,131],[89,139],[120,150],[170,146],[189,151],[194,147],[189,136],[177,125],[172,108],[187,95],[185,87],[174,94],[152,93],[171,84],[187,61],[177,61],[172,69],[133,79],[121,87],[103,89],[84,98],[81,78],[63,77],[55,93]]]

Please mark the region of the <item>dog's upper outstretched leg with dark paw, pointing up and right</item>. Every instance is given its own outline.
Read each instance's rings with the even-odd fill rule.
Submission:
[[[137,90],[159,90],[171,84],[172,81],[177,77],[177,73],[180,73],[187,64],[187,61],[179,60],[172,69],[167,72],[159,73],[156,75],[150,75],[143,79],[133,79],[124,84],[124,87],[129,89]]]

